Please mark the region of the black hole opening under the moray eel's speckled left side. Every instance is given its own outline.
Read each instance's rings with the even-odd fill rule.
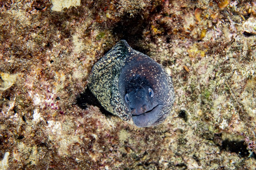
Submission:
[[[113,116],[110,112],[106,111],[94,97],[89,88],[86,88],[83,93],[76,97],[76,104],[82,109],[86,109],[88,105],[99,107],[100,112],[106,116]]]

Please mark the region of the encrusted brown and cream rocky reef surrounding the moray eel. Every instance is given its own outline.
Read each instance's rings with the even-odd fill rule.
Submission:
[[[0,2],[0,169],[256,168],[256,1],[64,1]],[[120,39],[172,75],[158,126],[83,104]]]

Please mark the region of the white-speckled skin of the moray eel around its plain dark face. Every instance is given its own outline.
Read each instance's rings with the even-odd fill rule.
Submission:
[[[134,124],[124,96],[135,78],[145,79],[154,91],[155,102],[163,105],[157,121],[149,126],[162,123],[175,101],[172,78],[160,64],[133,50],[125,40],[119,41],[94,65],[88,87],[107,111]]]

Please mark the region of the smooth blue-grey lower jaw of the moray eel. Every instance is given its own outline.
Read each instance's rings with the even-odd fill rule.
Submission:
[[[156,105],[150,111],[147,111],[140,115],[132,114],[133,123],[139,128],[153,126],[161,113],[162,107],[163,107],[163,105]]]

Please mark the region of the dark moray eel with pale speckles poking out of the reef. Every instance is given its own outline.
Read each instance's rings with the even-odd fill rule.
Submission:
[[[175,101],[172,77],[125,40],[93,66],[88,87],[107,111],[138,127],[162,123]]]

